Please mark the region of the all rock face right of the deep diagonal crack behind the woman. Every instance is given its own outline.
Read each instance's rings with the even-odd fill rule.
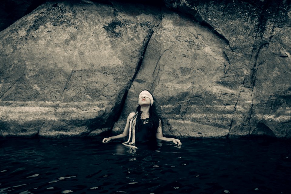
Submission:
[[[149,89],[166,134],[290,138],[290,3],[165,2],[207,27],[165,15],[113,131]]]

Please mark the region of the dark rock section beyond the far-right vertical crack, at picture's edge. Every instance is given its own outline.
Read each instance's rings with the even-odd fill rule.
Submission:
[[[253,66],[250,135],[291,138],[291,8],[272,2]]]

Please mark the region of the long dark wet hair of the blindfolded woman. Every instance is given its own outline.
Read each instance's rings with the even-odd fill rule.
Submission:
[[[145,91],[146,89],[142,90],[142,91]],[[141,91],[141,92],[142,92]],[[152,93],[149,91],[149,90],[146,90],[148,91],[151,95]],[[154,99],[154,96],[152,95],[152,98]],[[154,102],[155,102],[155,99],[154,99]],[[141,129],[142,127],[142,112],[140,110],[140,105],[138,105],[136,107],[136,112],[137,112],[137,115],[136,115],[136,124],[135,124],[135,130],[136,131],[139,131],[139,129]],[[150,137],[153,137],[153,138],[156,138],[156,133],[158,132],[158,127],[159,127],[159,124],[160,124],[160,117],[156,111],[156,106],[155,106],[155,103],[153,103],[152,105],[149,105],[149,136]]]

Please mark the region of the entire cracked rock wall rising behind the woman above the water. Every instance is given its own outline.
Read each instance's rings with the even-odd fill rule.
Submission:
[[[290,1],[105,2],[0,32],[1,136],[116,134],[149,89],[166,135],[291,137]]]

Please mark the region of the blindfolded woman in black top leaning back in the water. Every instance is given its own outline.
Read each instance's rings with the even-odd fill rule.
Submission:
[[[107,143],[112,139],[123,138],[129,134],[128,141],[122,143],[125,146],[135,147],[135,142],[155,141],[156,139],[173,142],[182,145],[179,139],[163,136],[162,122],[156,113],[154,99],[148,90],[142,90],[139,94],[139,105],[136,112],[131,112],[126,121],[124,131],[120,135],[103,139]]]

